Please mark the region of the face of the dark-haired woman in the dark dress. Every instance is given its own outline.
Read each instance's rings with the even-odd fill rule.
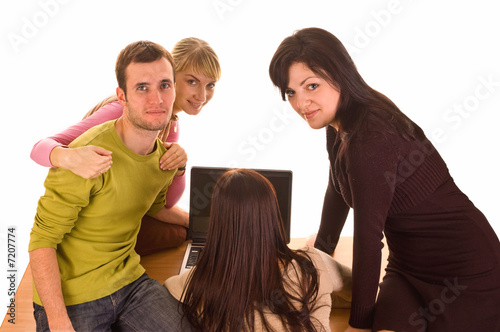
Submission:
[[[288,76],[286,95],[295,112],[313,129],[328,125],[337,128],[335,114],[340,91],[302,62],[292,64]]]

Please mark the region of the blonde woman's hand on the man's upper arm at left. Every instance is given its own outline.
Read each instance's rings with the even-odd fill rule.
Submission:
[[[111,151],[88,145],[78,148],[58,146],[51,151],[50,162],[54,167],[68,169],[85,179],[93,179],[106,173],[113,160]]]

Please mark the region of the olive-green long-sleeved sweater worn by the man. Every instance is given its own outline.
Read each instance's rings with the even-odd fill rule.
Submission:
[[[166,149],[142,156],[130,151],[116,120],[96,126],[70,147],[95,145],[113,152],[113,165],[95,179],[52,168],[38,202],[29,251],[55,248],[66,305],[93,301],[137,280],[144,268],[135,252],[141,218],[165,204],[175,171],[162,171]],[[41,305],[33,287],[33,301]]]

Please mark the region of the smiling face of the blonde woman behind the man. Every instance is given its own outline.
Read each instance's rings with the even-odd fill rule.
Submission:
[[[181,111],[189,115],[200,113],[215,91],[216,80],[187,69],[176,73],[175,102],[173,113]]]

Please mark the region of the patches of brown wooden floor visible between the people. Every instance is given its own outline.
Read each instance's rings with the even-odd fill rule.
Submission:
[[[292,239],[290,247],[293,249],[303,247],[305,239]],[[148,275],[163,283],[168,277],[178,274],[186,243],[178,248],[167,249],[159,253],[144,256],[141,264]],[[352,262],[352,237],[342,237],[334,254],[340,263],[351,266]],[[387,257],[387,249],[384,248],[383,262]],[[385,264],[383,264],[385,265]],[[382,266],[384,268],[384,266]],[[0,330],[5,331],[35,331],[35,320],[33,318],[31,269],[28,265],[26,272],[19,284],[15,295],[15,317],[7,315]],[[9,323],[13,319],[15,324]],[[333,332],[344,331],[347,328],[349,309],[333,309],[330,319],[330,327]]]

